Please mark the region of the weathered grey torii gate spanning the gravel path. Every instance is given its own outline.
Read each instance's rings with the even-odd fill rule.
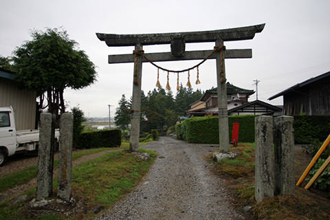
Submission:
[[[229,151],[227,92],[225,86],[225,58],[252,58],[252,50],[225,50],[224,41],[253,39],[265,23],[243,28],[230,28],[204,32],[177,32],[165,34],[100,34],[100,41],[109,47],[135,46],[133,54],[109,55],[108,63],[134,63],[131,118],[131,151],[137,151],[140,135],[142,63],[158,61],[187,61],[216,59],[217,94],[219,108],[219,146]],[[214,50],[185,51],[185,43],[215,42]],[[170,44],[171,52],[144,54],[143,45]]]

